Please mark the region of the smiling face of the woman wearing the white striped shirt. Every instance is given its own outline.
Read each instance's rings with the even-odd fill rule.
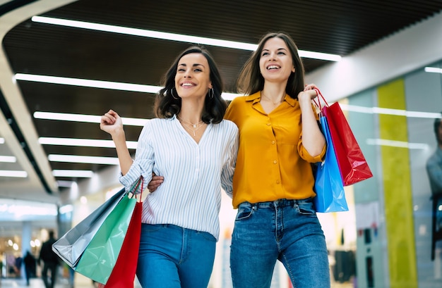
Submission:
[[[210,67],[203,54],[186,54],[178,61],[175,87],[181,99],[203,98],[212,87]]]

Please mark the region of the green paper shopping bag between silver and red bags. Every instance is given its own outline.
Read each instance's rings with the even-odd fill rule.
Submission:
[[[76,272],[106,284],[117,263],[136,201],[128,194],[119,201],[86,247],[74,268]]]

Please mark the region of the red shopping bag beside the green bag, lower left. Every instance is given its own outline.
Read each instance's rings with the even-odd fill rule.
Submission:
[[[141,184],[141,192],[143,192],[143,184]],[[98,284],[99,288],[133,288],[138,263],[138,250],[140,248],[142,211],[143,202],[140,195],[140,201],[137,201],[135,204],[117,263],[115,263],[112,269],[109,280],[107,280],[106,284]]]

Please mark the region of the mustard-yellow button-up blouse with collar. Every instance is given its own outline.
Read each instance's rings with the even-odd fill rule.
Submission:
[[[313,192],[311,156],[302,145],[301,108],[296,99],[285,101],[270,114],[260,103],[261,92],[235,98],[225,118],[239,128],[239,151],[233,177],[233,206],[277,199],[307,199]]]

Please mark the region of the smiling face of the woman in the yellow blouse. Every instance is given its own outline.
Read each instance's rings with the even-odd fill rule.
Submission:
[[[294,73],[294,65],[284,40],[273,37],[265,42],[259,59],[259,68],[266,81],[287,82],[290,74]]]

